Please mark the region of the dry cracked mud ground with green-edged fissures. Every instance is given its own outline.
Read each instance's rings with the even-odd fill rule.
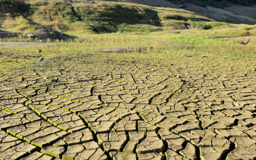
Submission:
[[[2,52],[1,70],[24,54]],[[255,159],[254,63],[96,53],[1,71],[0,159]]]

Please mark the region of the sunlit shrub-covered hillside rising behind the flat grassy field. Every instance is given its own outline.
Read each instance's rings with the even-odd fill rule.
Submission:
[[[0,11],[0,28],[12,32],[47,28],[62,32],[125,33],[179,29],[184,25],[198,29],[229,26],[183,9],[102,1],[91,5],[44,0],[26,3],[0,0]]]

